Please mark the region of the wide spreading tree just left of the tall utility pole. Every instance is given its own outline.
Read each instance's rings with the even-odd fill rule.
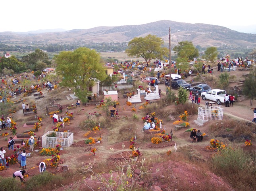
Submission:
[[[164,56],[167,57],[169,54],[169,50],[163,45],[164,41],[161,38],[149,34],[144,38],[133,38],[128,43],[128,48],[125,52],[128,56],[142,57],[145,62],[151,59],[162,60]]]

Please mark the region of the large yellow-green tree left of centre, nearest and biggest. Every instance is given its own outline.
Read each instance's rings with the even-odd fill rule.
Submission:
[[[106,72],[100,55],[89,48],[80,47],[75,51],[63,51],[54,57],[58,75],[63,76],[60,85],[74,87],[75,94],[82,102],[87,102],[89,87],[94,85],[95,80],[103,81]]]

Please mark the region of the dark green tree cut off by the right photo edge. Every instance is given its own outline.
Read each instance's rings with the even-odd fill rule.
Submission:
[[[256,69],[250,71],[250,74],[246,77],[244,81],[243,93],[250,98],[250,105],[252,106],[252,101],[256,98]]]

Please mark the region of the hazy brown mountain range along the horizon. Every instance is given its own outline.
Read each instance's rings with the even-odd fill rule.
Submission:
[[[169,42],[169,27],[171,27],[172,46],[181,41],[191,41],[201,47],[256,47],[256,34],[237,32],[229,28],[208,24],[190,24],[175,21],[157,21],[143,25],[98,26],[90,29],[37,30],[30,32],[0,32],[0,43],[6,44],[90,44],[90,43],[123,43],[135,37],[148,34],[156,35]],[[59,31],[56,31],[59,30]]]

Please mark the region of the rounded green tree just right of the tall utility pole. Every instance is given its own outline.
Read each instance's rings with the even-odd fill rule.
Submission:
[[[198,57],[198,49],[194,47],[192,42],[182,41],[178,43],[179,45],[173,47],[173,51],[177,53],[179,59],[193,60],[194,57]],[[179,62],[177,62],[179,63]]]

